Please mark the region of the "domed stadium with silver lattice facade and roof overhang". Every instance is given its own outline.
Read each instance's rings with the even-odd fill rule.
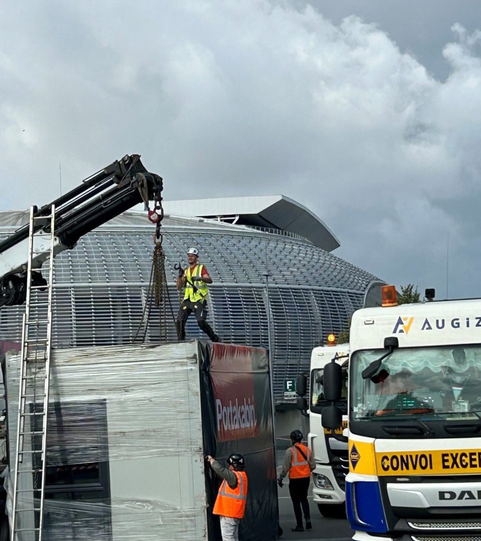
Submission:
[[[215,208],[215,200],[189,202],[195,217],[176,214],[183,202],[166,203],[162,246],[173,314],[166,299],[147,325],[154,228],[146,213],[124,213],[82,237],[55,260],[54,347],[128,344],[143,335],[176,340],[174,265],[185,266],[186,249],[195,246],[214,280],[209,321],[222,341],[267,347],[270,312],[274,395],[282,401],[284,380],[308,370],[311,349],[344,329],[355,309],[376,304],[384,282],[330,253],[337,239],[305,207],[270,197],[222,200]],[[25,211],[0,212],[0,238],[24,223]],[[2,308],[0,340],[21,340],[22,314],[23,307]],[[205,336],[194,316],[186,334]]]

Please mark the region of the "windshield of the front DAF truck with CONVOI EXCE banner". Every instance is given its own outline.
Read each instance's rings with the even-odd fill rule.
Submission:
[[[351,357],[352,420],[392,415],[466,418],[481,412],[481,346],[395,349],[376,377],[361,373],[385,350],[357,351]]]

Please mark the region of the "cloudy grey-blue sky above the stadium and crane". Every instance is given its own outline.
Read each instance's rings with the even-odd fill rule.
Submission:
[[[481,296],[479,0],[133,5],[4,6],[0,210],[139,153],[166,199],[285,194],[387,282]]]

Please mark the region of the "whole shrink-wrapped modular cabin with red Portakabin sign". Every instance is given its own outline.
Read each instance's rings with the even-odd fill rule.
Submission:
[[[4,362],[10,511],[20,360],[12,351]],[[38,389],[41,394],[43,381]],[[32,415],[24,429],[33,433],[33,451],[41,449],[36,423]],[[242,538],[275,539],[278,506],[265,349],[200,340],[55,349],[42,538],[218,541],[212,507],[219,479],[204,457],[211,454],[222,462],[232,452],[245,455],[249,479],[248,528],[241,527]],[[25,454],[21,469],[32,471],[18,478],[25,508],[34,508],[38,499],[35,457]],[[38,515],[23,513],[24,527],[35,527]],[[31,532],[18,531],[17,537],[34,541]]]

